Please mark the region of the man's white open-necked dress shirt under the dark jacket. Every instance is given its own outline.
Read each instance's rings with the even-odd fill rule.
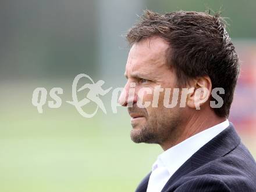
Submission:
[[[199,132],[183,142],[163,151],[152,166],[147,192],[160,192],[170,177],[202,146],[229,126],[226,120]]]

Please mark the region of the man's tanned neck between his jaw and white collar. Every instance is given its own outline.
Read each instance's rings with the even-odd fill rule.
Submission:
[[[186,115],[186,118],[183,118],[183,121],[179,127],[173,131],[172,135],[169,137],[170,139],[161,143],[160,146],[164,151],[168,150],[168,148],[183,142],[189,137],[204,131],[205,129],[220,124],[225,120],[225,117],[218,117],[213,111],[210,111],[210,113],[196,111],[191,115]]]

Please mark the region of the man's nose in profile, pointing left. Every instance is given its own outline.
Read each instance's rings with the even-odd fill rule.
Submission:
[[[134,82],[127,82],[125,88],[118,99],[118,103],[123,107],[132,107],[137,103],[136,84]]]

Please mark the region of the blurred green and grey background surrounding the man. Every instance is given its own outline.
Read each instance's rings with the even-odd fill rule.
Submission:
[[[71,100],[80,73],[122,87],[123,35],[143,9],[222,10],[243,60],[230,121],[256,157],[256,1],[3,0],[0,2],[0,191],[134,191],[161,148],[134,144],[126,108],[83,118]],[[63,88],[62,106],[31,103],[33,90]],[[51,98],[48,96],[48,100]],[[246,106],[246,107],[244,107]],[[85,110],[90,111],[90,106]]]

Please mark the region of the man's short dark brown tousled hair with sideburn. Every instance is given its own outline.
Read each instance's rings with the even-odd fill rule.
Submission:
[[[208,75],[212,89],[223,88],[219,117],[228,117],[234,88],[239,75],[239,58],[227,34],[226,22],[220,14],[177,11],[161,15],[145,10],[140,21],[130,28],[126,39],[130,45],[150,37],[168,42],[167,61],[182,84],[191,78]],[[214,100],[211,97],[211,100]]]

